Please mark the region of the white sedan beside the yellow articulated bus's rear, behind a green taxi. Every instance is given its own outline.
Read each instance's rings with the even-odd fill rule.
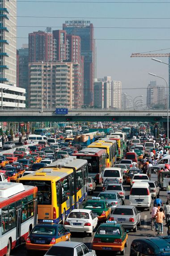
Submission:
[[[64,227],[70,232],[83,232],[92,236],[98,224],[98,216],[88,209],[74,209],[64,222]]]

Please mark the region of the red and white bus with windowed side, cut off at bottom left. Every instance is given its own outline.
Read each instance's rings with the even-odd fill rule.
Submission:
[[[37,224],[37,188],[0,183],[0,256],[26,241]]]

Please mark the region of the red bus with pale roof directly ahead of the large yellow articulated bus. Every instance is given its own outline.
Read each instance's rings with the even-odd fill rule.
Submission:
[[[106,150],[99,148],[84,148],[73,154],[77,159],[86,159],[91,164],[89,176],[98,184],[102,184],[102,172],[106,168]]]

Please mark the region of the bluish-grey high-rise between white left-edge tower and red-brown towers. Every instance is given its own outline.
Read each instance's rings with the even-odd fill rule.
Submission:
[[[17,86],[25,88],[28,93],[29,72],[28,72],[28,44],[23,44],[21,49],[18,49],[17,63]]]

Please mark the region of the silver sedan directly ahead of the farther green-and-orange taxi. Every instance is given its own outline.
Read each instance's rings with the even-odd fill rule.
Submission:
[[[107,201],[107,203],[110,205],[111,211],[113,211],[115,207],[122,205],[123,203],[122,198],[117,192],[100,192],[98,197]]]

